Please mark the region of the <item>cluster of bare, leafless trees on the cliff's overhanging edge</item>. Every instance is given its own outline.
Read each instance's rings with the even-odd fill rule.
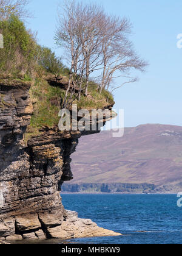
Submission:
[[[101,79],[100,93],[103,89],[109,90],[116,77],[127,77],[129,81],[124,84],[136,81],[131,78],[133,69],[143,72],[147,63],[133,50],[128,40],[130,34],[131,24],[127,18],[107,15],[99,5],[70,0],[62,7],[61,2],[55,40],[65,49],[70,65],[64,108],[75,98],[77,89],[78,99],[81,90],[85,90],[87,96],[91,74]]]

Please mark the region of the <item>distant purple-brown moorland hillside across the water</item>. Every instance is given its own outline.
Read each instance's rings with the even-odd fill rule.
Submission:
[[[112,131],[82,137],[72,155],[72,172],[69,183],[178,185],[182,127],[146,124],[126,128],[122,138],[113,138]]]

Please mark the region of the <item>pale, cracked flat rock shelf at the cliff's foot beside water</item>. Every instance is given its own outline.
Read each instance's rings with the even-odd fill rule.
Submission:
[[[52,238],[67,240],[71,238],[121,235],[120,233],[115,233],[112,230],[106,230],[98,227],[96,223],[90,219],[78,218],[78,213],[76,212],[66,210],[66,215],[67,217],[60,225],[56,223],[53,225],[52,219],[45,218],[45,216],[42,216],[41,218],[44,219],[44,222],[33,215],[25,215],[21,218],[16,218],[16,224],[19,229],[24,231],[21,235],[16,234],[6,236],[2,243],[11,243],[24,239],[33,241]]]

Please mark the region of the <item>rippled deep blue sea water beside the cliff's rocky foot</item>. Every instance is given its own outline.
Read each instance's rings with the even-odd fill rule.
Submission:
[[[61,194],[65,208],[123,236],[69,240],[84,244],[181,244],[176,194]]]

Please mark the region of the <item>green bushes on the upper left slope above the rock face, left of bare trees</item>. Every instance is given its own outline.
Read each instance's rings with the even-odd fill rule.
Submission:
[[[18,16],[0,20],[0,32],[4,37],[4,48],[0,49],[1,77],[31,80],[45,73],[67,75],[61,59],[51,49],[39,46]]]

